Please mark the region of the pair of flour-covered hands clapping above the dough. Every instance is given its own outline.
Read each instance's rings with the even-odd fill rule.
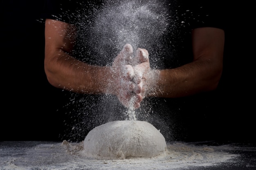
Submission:
[[[146,75],[150,71],[148,51],[137,49],[134,55],[132,46],[126,44],[115,58],[112,69],[119,101],[127,108],[139,108],[146,93]]]

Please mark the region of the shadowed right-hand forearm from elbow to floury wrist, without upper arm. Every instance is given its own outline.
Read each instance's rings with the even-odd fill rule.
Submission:
[[[173,69],[152,70],[146,94],[151,97],[174,98],[211,91],[217,87],[221,73],[221,64],[206,60]]]

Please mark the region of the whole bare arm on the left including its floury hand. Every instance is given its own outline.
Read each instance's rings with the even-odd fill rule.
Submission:
[[[45,22],[45,73],[50,84],[76,93],[116,95],[125,106],[135,97],[132,104],[139,107],[141,88],[132,81],[134,76],[128,76],[133,68],[126,63],[132,55],[130,45],[124,46],[112,66],[89,65],[72,57],[74,26],[50,19]]]

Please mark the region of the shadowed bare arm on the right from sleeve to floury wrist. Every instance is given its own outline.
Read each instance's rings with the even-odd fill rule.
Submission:
[[[222,74],[224,31],[198,28],[192,33],[193,62],[174,69],[151,70],[146,96],[183,97],[215,89]]]

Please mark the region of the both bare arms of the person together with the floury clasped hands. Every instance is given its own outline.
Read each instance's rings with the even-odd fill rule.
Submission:
[[[74,26],[46,19],[45,73],[52,86],[83,94],[112,94],[126,107],[144,97],[184,97],[212,91],[222,73],[224,31],[192,31],[193,62],[173,69],[150,69],[148,51],[124,45],[112,66],[93,66],[72,57]],[[132,57],[134,56],[134,57]]]

